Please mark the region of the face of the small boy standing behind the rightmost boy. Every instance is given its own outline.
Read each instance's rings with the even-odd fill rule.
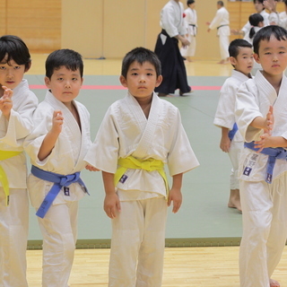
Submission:
[[[252,48],[240,47],[239,55],[230,57],[230,63],[234,65],[235,70],[246,75],[250,74],[254,64]]]

